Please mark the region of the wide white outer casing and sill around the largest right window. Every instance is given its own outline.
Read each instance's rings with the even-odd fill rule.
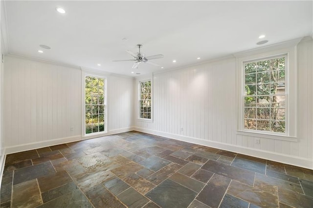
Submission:
[[[290,142],[298,142],[297,138],[297,44],[301,41],[301,38],[294,39],[288,42],[281,42],[273,45],[268,45],[256,49],[251,49],[239,53],[233,54],[236,58],[236,111],[237,111],[237,135],[283,140]],[[263,60],[268,57],[277,57],[282,55],[287,55],[286,60],[287,71],[285,83],[286,83],[286,103],[288,103],[288,118],[286,121],[288,125],[285,134],[276,134],[275,132],[262,132],[262,131],[251,131],[246,130],[243,126],[244,124],[244,113],[243,113],[243,85],[244,80],[244,62],[249,62],[253,60]]]

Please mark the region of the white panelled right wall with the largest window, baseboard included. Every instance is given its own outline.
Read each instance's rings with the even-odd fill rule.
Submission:
[[[255,137],[237,135],[234,58],[154,74],[154,122],[136,120],[136,130],[312,169],[312,39],[297,52],[298,142],[263,136],[257,145]]]

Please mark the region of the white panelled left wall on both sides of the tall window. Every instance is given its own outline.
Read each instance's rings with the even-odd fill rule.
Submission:
[[[132,79],[109,76],[107,87],[109,133],[130,127]],[[6,153],[82,139],[82,71],[78,67],[6,56],[4,98]]]

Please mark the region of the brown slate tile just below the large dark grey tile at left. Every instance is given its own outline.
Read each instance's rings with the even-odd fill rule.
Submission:
[[[50,175],[39,177],[38,184],[41,192],[51,190],[56,187],[60,187],[67,183],[72,182],[71,177],[68,175],[67,171],[63,170]]]

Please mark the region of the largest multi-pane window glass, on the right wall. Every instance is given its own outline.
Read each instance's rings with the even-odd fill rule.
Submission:
[[[286,57],[244,62],[244,128],[286,133]]]

